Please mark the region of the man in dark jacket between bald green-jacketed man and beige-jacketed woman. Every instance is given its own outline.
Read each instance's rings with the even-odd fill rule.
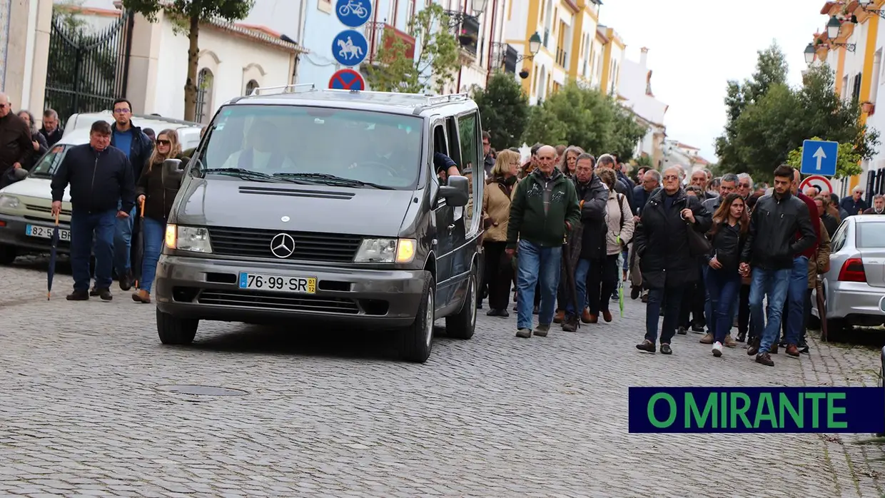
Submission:
[[[608,230],[605,225],[608,187],[593,174],[593,156],[586,152],[578,156],[574,173],[574,187],[578,194],[578,206],[581,208],[581,254],[575,255],[578,259],[574,265],[574,299],[567,300],[566,318],[562,323],[562,329],[566,332],[578,329],[578,317],[587,300],[590,262],[606,256],[605,233]],[[580,309],[575,308],[575,303],[578,303]]]

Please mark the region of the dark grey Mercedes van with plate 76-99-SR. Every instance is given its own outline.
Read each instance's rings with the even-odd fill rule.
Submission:
[[[434,321],[473,336],[484,178],[466,95],[289,86],[225,103],[181,175],[157,280],[164,344],[200,320],[395,328],[425,362]],[[461,175],[441,180],[443,154]],[[475,199],[475,201],[474,201]]]

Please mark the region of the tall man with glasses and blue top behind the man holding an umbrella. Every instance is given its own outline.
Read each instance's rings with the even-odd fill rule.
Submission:
[[[132,175],[135,181],[142,176],[144,166],[148,164],[150,155],[153,153],[153,143],[150,137],[142,132],[142,128],[132,124],[132,104],[126,99],[117,99],[113,103],[113,117],[116,122],[113,126],[111,146],[120,149],[129,158],[132,167]],[[129,216],[117,220],[117,228],[114,232],[114,270],[119,279],[119,288],[129,290],[132,287],[132,227],[135,220],[135,207],[131,208]]]

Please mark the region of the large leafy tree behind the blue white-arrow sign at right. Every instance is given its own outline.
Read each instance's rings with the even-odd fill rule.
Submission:
[[[795,161],[791,151],[814,136],[843,144],[837,178],[857,174],[859,165],[850,163],[873,157],[879,133],[861,124],[857,102],[845,102],[835,93],[829,67],[812,67],[799,88],[787,86],[786,68],[775,45],[759,52],[751,80],[729,81],[726,130],[716,142],[718,170],[770,180],[773,169]]]

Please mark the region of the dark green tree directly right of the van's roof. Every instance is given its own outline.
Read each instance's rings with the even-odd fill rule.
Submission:
[[[526,130],[529,108],[528,96],[512,74],[496,72],[486,88],[473,92],[473,101],[480,108],[482,129],[491,135],[492,147],[518,147],[519,137]]]

